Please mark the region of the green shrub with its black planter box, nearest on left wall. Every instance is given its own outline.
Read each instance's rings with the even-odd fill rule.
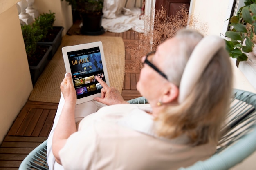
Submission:
[[[31,80],[34,85],[48,63],[48,57],[52,50],[52,46],[40,45],[37,43],[43,38],[43,31],[38,26],[22,25],[21,29]]]

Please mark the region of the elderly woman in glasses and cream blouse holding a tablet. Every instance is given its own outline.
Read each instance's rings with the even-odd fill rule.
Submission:
[[[176,170],[215,152],[232,88],[225,41],[184,29],[142,63],[137,90],[149,104],[128,104],[96,76],[101,97],[76,105],[65,75],[48,139],[50,169]]]

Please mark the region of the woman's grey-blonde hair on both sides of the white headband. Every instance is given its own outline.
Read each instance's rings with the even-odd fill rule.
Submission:
[[[179,86],[186,62],[202,35],[185,29],[175,38],[179,48],[171,53],[174,57],[167,56],[172,62],[166,62],[163,70],[169,81]],[[217,142],[229,108],[232,84],[231,61],[222,47],[207,64],[184,102],[168,106],[156,118],[157,134],[171,139],[186,134],[191,145]]]

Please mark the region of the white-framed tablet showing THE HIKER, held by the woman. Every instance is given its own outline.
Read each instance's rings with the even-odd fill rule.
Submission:
[[[109,86],[102,42],[65,46],[62,54],[66,71],[71,73],[76,89],[76,104],[101,97],[102,86],[95,76],[101,77]]]

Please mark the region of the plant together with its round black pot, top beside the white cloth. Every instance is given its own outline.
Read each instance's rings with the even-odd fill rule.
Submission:
[[[63,1],[63,0],[62,0]],[[84,35],[101,35],[105,32],[101,26],[103,17],[104,0],[65,0],[76,9],[83,22],[81,34]]]

